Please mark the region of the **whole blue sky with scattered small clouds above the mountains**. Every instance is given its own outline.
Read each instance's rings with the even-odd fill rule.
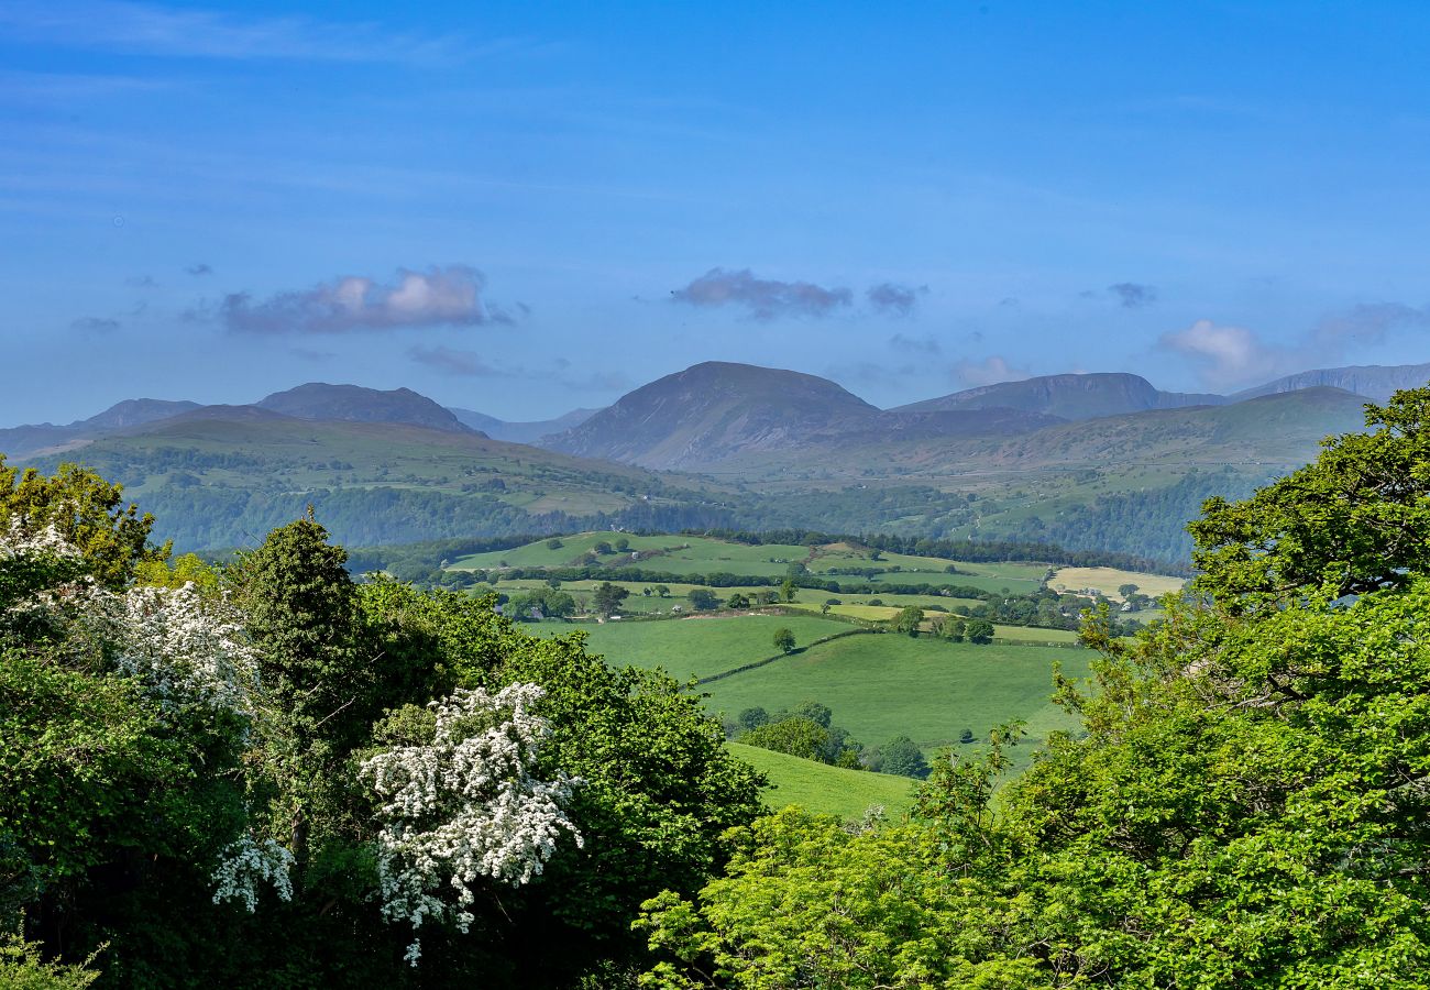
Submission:
[[[0,425],[1430,361],[1430,4],[0,0]]]

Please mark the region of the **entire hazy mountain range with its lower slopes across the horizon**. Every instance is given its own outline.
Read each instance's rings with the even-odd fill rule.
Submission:
[[[814,375],[706,362],[538,422],[310,382],[250,405],[132,399],[0,429],[0,452],[94,466],[184,549],[246,545],[312,504],[359,545],[812,528],[1177,561],[1201,499],[1294,469],[1323,436],[1360,429],[1366,401],[1427,378],[1430,365],[1331,368],[1223,396],[1051,375],[879,409]]]

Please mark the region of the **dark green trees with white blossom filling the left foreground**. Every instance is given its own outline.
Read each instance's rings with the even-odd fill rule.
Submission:
[[[96,986],[609,984],[759,810],[696,698],[579,635],[358,585],[310,518],[199,582],[147,526],[0,474],[0,931]],[[0,984],[87,979],[6,944]]]

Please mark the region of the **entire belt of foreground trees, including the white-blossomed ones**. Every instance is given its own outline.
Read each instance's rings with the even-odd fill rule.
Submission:
[[[1188,525],[1080,720],[771,813],[698,691],[310,512],[220,567],[0,462],[0,986],[1423,987],[1430,389]]]

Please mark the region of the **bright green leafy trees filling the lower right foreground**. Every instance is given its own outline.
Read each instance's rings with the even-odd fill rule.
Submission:
[[[992,801],[945,755],[911,824],[788,811],[642,927],[649,987],[1424,987],[1430,391],[1194,526],[1201,599],[1093,624],[1085,737]],[[1346,598],[1358,592],[1358,598]]]

